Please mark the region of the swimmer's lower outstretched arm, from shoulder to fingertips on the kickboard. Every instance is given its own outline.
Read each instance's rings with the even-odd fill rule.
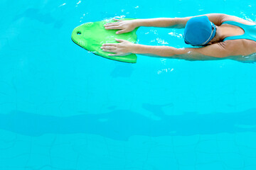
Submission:
[[[175,48],[169,46],[139,45],[127,40],[116,39],[119,43],[104,44],[102,50],[113,52],[110,56],[124,56],[131,53],[153,57],[177,58],[183,60],[221,60],[241,55],[245,49],[241,43],[218,42],[206,47]]]

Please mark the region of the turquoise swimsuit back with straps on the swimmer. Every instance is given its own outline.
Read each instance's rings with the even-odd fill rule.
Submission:
[[[243,35],[235,35],[235,36],[230,36],[230,37],[224,38],[223,42],[225,40],[237,40],[237,39],[247,39],[247,40],[256,41],[256,25],[249,26],[249,25],[245,25],[245,24],[238,23],[235,21],[225,21],[222,24],[224,24],[224,23],[228,23],[233,26],[239,26],[240,28],[242,28],[245,31],[245,33]]]

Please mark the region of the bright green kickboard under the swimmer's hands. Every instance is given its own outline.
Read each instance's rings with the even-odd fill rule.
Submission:
[[[122,20],[132,20],[132,18],[125,18]],[[95,55],[100,55],[107,59],[117,60],[119,62],[136,63],[137,55],[131,54],[127,56],[109,56],[114,54],[112,52],[104,52],[100,47],[105,43],[119,43],[115,38],[128,40],[129,42],[135,43],[137,41],[136,31],[138,28],[132,30],[129,33],[116,34],[117,30],[106,30],[105,23],[116,22],[113,20],[97,21],[84,23],[73,30],[71,38],[80,47],[85,48]]]

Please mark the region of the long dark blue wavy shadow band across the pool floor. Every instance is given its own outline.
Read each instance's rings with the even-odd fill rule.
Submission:
[[[89,133],[113,140],[128,140],[134,135],[149,137],[256,132],[256,108],[238,113],[165,115],[152,120],[128,110],[68,117],[37,115],[22,111],[0,114],[0,129],[21,135]]]

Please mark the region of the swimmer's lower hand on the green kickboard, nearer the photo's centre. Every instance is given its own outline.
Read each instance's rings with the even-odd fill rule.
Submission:
[[[120,43],[103,44],[102,47],[100,47],[102,51],[114,52],[114,54],[110,54],[109,56],[125,56],[132,53],[132,47],[134,46],[134,43],[127,40],[115,40]]]

